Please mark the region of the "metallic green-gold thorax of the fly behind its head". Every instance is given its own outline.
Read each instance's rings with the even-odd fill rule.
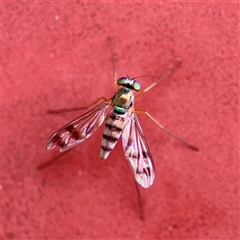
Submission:
[[[134,101],[133,92],[127,88],[120,88],[113,97],[114,111],[124,114],[132,106]]]

